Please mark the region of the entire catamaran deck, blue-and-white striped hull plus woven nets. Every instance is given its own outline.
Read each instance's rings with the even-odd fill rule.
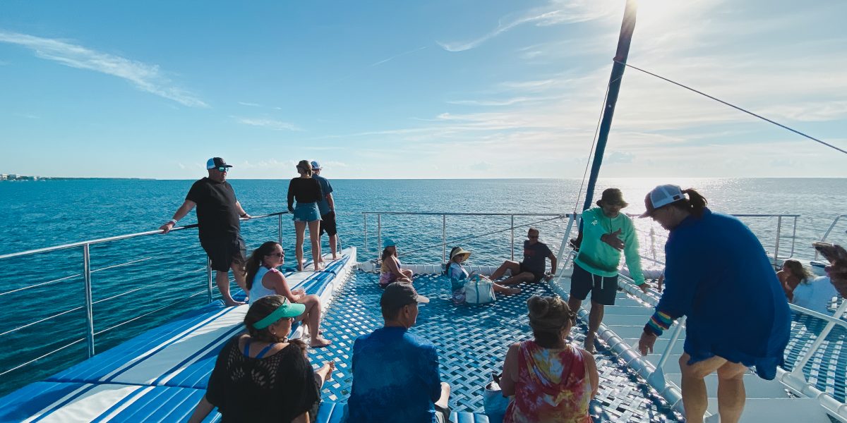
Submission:
[[[312,349],[310,357],[315,366],[324,360],[336,362],[334,379],[324,384],[324,405],[318,415],[318,421],[327,423],[340,421],[341,404],[350,393],[352,343],[359,335],[383,323],[378,275],[353,270],[355,249],[347,249],[344,254],[342,260],[330,262],[321,272],[286,272],[292,288],[318,294],[326,307],[324,332],[334,343],[328,348]],[[437,272],[439,268],[437,265],[417,267],[427,269],[424,272]],[[453,420],[487,421],[479,414],[483,412],[484,384],[492,373],[501,369],[509,343],[532,337],[526,300],[531,295],[566,296],[567,275],[557,283],[524,284],[522,294],[500,296],[490,305],[452,305],[449,281],[440,274],[418,275],[415,285],[432,301],[421,307],[418,324],[412,327],[412,332],[429,339],[439,349],[442,380],[453,388],[450,401]],[[668,331],[656,343],[656,354],[641,357],[634,353],[632,345],[652,313],[650,304],[656,298],[655,293],[640,293],[625,279],[622,288],[630,294],[618,292],[616,305],[606,307],[599,331],[599,338],[608,348],[601,348],[595,354],[601,383],[591,403],[591,413],[595,421],[682,420],[676,364],[678,355],[682,354],[682,340],[673,343],[673,331]],[[243,293],[235,297],[243,298]],[[246,308],[246,305],[225,308],[219,302],[206,305],[42,382],[23,387],[0,398],[0,421],[185,420],[205,392],[219,350],[227,339],[242,331]],[[571,332],[574,343],[582,343],[584,339],[586,315],[585,310],[580,310],[581,322]],[[786,350],[786,370],[790,371],[798,360],[804,360],[805,351],[815,349],[816,354],[803,365],[803,373],[818,392],[828,394],[827,398],[816,398],[820,395],[806,389],[805,381],[791,393],[787,385],[762,381],[750,372],[745,376],[748,392],[745,421],[762,418],[826,421],[824,404],[843,417],[842,411],[847,407],[844,405],[847,330],[829,321],[834,328],[821,338],[828,323],[822,317],[794,316],[791,343]],[[301,333],[302,328],[297,328],[295,336]],[[815,345],[817,338],[821,338],[819,346]],[[663,362],[662,352],[669,344],[673,346]],[[656,368],[662,371],[655,371]],[[662,376],[659,382],[656,375]],[[792,375],[783,372],[778,378],[784,380],[783,376]],[[716,382],[714,377],[706,378],[712,394],[716,392]],[[809,398],[798,398],[798,393]],[[709,409],[712,414],[717,413],[715,403],[712,398]],[[219,415],[213,413],[206,420],[218,419]]]

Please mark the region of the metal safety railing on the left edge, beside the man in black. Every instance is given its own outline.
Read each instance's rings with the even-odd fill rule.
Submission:
[[[279,222],[279,228],[278,228],[277,233],[278,233],[278,236],[279,236],[279,242],[281,244],[282,243],[282,215],[285,215],[285,214],[289,214],[289,212],[288,211],[280,211],[280,212],[276,212],[276,213],[268,213],[268,214],[264,214],[264,215],[253,216],[253,217],[251,217],[250,220],[252,220],[252,219],[262,219],[262,218],[265,218],[265,217],[274,217],[274,216],[279,217],[279,221],[278,221]],[[242,219],[242,220],[246,220],[246,219]],[[182,227],[173,228],[173,229],[170,230],[170,232],[185,230],[185,229],[190,229],[190,228],[197,228],[197,224],[185,225],[185,226],[182,226]],[[139,262],[139,261],[150,260],[150,258],[148,257],[148,258],[145,258],[145,259],[128,261],[126,263],[121,263],[119,265],[107,266],[107,267],[103,267],[102,269],[94,270],[94,269],[91,269],[91,250],[90,250],[91,245],[93,245],[93,244],[105,244],[105,243],[118,241],[118,240],[121,240],[121,239],[133,239],[133,238],[138,238],[138,237],[147,236],[147,235],[154,235],[154,234],[157,234],[157,233],[163,233],[163,231],[161,229],[157,229],[157,230],[154,230],[154,231],[147,231],[147,232],[141,232],[141,233],[127,233],[127,234],[108,237],[108,238],[89,239],[89,240],[86,240],[86,241],[80,241],[80,242],[71,243],[71,244],[63,244],[63,245],[57,245],[57,246],[54,246],[54,247],[47,247],[47,248],[42,248],[42,249],[37,249],[37,250],[28,250],[28,251],[21,251],[21,252],[18,252],[18,253],[0,255],[0,260],[6,260],[6,259],[14,259],[14,258],[28,256],[28,255],[37,255],[37,254],[42,254],[42,253],[47,253],[47,252],[52,252],[52,251],[58,251],[58,250],[70,250],[70,249],[81,248],[82,249],[82,256],[83,256],[83,258],[82,258],[82,273],[81,274],[82,274],[82,276],[84,277],[84,280],[85,280],[85,305],[83,305],[81,307],[76,307],[76,308],[71,309],[71,310],[65,310],[63,312],[60,312],[60,313],[55,314],[53,316],[48,316],[47,318],[44,318],[44,319],[41,319],[41,320],[38,320],[38,321],[31,321],[31,322],[29,322],[29,323],[27,323],[27,324],[25,324],[24,326],[21,326],[21,327],[16,327],[16,328],[10,329],[8,331],[0,332],[0,337],[2,337],[3,335],[6,335],[8,333],[11,333],[11,332],[17,332],[20,329],[23,329],[25,327],[30,327],[30,326],[32,326],[36,323],[40,323],[42,321],[47,321],[47,320],[53,319],[53,318],[58,317],[58,316],[66,315],[66,314],[68,314],[72,311],[84,309],[85,313],[86,313],[86,338],[85,338],[85,340],[87,342],[87,347],[88,347],[87,348],[88,356],[91,357],[92,355],[95,354],[95,351],[94,351],[94,337],[95,337],[95,335],[102,333],[102,332],[107,332],[107,331],[109,331],[109,330],[111,330],[115,327],[119,327],[121,325],[124,325],[124,324],[130,322],[130,321],[134,321],[136,319],[139,319],[142,316],[147,316],[147,315],[151,314],[152,312],[155,312],[155,311],[158,311],[158,310],[163,310],[164,308],[167,308],[168,306],[173,305],[173,304],[169,304],[169,305],[166,305],[164,307],[160,307],[157,310],[153,310],[152,312],[145,313],[141,316],[135,316],[132,319],[130,319],[129,321],[124,321],[124,322],[121,322],[121,323],[119,323],[119,324],[117,324],[113,327],[108,327],[107,329],[104,329],[102,331],[94,332],[93,305],[100,303],[102,301],[106,301],[108,299],[114,299],[114,298],[117,298],[119,296],[129,294],[130,292],[135,292],[135,291],[137,291],[141,288],[132,289],[132,290],[125,292],[123,294],[113,295],[113,296],[111,296],[107,299],[100,299],[100,300],[94,301],[92,299],[92,295],[91,295],[91,291],[92,291],[92,289],[91,289],[91,285],[92,285],[91,275],[93,273],[96,273],[96,272],[99,272],[99,271],[102,271],[102,270],[106,270],[108,268],[113,268],[113,267],[117,267],[117,266],[125,266],[125,265],[131,264],[131,263],[136,263],[136,262]],[[72,277],[79,277],[79,276],[80,276],[80,273],[77,273],[75,275],[71,275],[71,276],[67,276],[67,277],[60,277],[58,279],[54,279],[52,281],[47,281],[47,282],[44,282],[44,283],[35,283],[35,284],[29,285],[29,286],[26,286],[26,287],[23,287],[23,288],[15,288],[15,289],[0,293],[0,296],[6,295],[6,294],[12,294],[14,292],[23,291],[23,290],[30,289],[30,288],[45,286],[45,285],[48,285],[48,284],[51,284],[51,283],[57,283],[59,281],[63,281],[63,280],[66,280],[66,279],[69,279],[69,278],[72,278]],[[208,299],[209,302],[211,302],[212,299],[213,299],[213,280],[212,280],[211,263],[208,260],[207,260],[207,287],[206,288],[207,288],[206,289],[207,299]],[[199,294],[199,293],[197,293],[197,294]],[[191,297],[196,296],[197,294],[192,294]],[[182,300],[185,300],[185,299],[180,299],[176,302],[179,302],[179,301],[182,301]],[[61,349],[68,348],[69,346],[71,346],[75,343],[79,343],[80,341],[82,341],[82,339],[77,339],[76,341],[69,343],[69,344],[66,344],[66,345],[60,347],[59,349],[55,349],[55,350],[53,350],[53,351],[51,351],[47,354],[42,355],[41,357],[37,358],[36,360],[41,360],[42,358],[46,357],[47,355],[56,353]],[[8,373],[9,371],[14,371],[14,370],[19,369],[20,367],[22,367],[24,365],[28,365],[32,362],[35,362],[36,360],[30,360],[30,361],[24,363],[23,365],[18,365],[18,366],[15,366],[12,369],[8,369],[6,371],[3,371],[2,373],[0,373],[0,376],[3,376],[4,374]]]

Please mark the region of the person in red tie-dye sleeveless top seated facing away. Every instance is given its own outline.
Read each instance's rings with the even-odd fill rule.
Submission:
[[[590,423],[600,375],[594,356],[567,342],[576,313],[556,297],[533,296],[527,308],[534,339],[512,343],[506,353],[500,386],[514,399],[503,422]]]

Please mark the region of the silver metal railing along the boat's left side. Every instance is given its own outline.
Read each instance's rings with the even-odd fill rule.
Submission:
[[[289,212],[288,211],[280,211],[280,212],[275,212],[275,213],[268,213],[268,214],[263,214],[263,215],[259,215],[259,216],[253,216],[249,220],[257,220],[257,219],[266,219],[266,218],[277,217],[278,218],[278,239],[279,239],[279,242],[281,244],[282,243],[282,216],[285,215],[285,214],[289,214]],[[245,219],[241,219],[241,220],[243,221]],[[197,224],[191,224],[191,225],[185,225],[185,226],[173,228],[173,229],[170,230],[170,232],[183,231],[183,230],[187,230],[187,229],[191,229],[191,228],[197,228]],[[138,319],[141,319],[142,317],[152,315],[152,314],[154,314],[158,311],[167,309],[169,307],[176,305],[177,303],[185,301],[186,299],[191,299],[191,298],[197,297],[197,295],[201,295],[203,293],[206,294],[206,298],[207,298],[208,302],[212,302],[213,301],[213,274],[212,274],[211,262],[207,258],[206,267],[205,267],[206,282],[207,282],[206,285],[207,286],[206,286],[205,290],[197,291],[193,294],[189,294],[187,297],[177,299],[173,302],[170,302],[167,305],[163,305],[161,307],[158,307],[155,310],[145,312],[145,313],[138,315],[138,316],[133,316],[129,320],[120,321],[116,324],[113,324],[110,327],[107,327],[107,328],[104,328],[102,330],[95,332],[95,330],[94,330],[94,310],[93,310],[94,305],[97,305],[97,304],[100,304],[100,303],[103,303],[103,302],[106,302],[106,301],[109,301],[109,300],[112,300],[112,299],[118,299],[120,297],[124,297],[125,295],[137,293],[137,292],[143,291],[145,289],[154,289],[154,288],[157,288],[157,287],[152,286],[152,285],[147,285],[147,286],[132,288],[132,289],[127,290],[123,293],[113,294],[113,295],[108,296],[108,298],[97,299],[95,301],[92,298],[91,276],[93,274],[97,273],[97,272],[102,272],[102,271],[105,271],[105,270],[108,270],[108,269],[113,269],[113,268],[122,267],[122,266],[130,266],[130,265],[142,262],[142,261],[150,261],[150,260],[153,260],[153,259],[156,259],[156,258],[162,258],[162,257],[145,257],[145,258],[141,258],[141,259],[126,261],[124,263],[120,263],[120,264],[117,264],[117,265],[104,266],[102,268],[92,269],[91,268],[91,245],[108,244],[108,243],[113,243],[113,242],[119,241],[119,240],[136,239],[136,238],[160,234],[160,233],[163,233],[163,231],[161,229],[157,229],[157,230],[153,230],[153,231],[147,231],[147,232],[141,232],[141,233],[127,233],[127,234],[108,237],[108,238],[89,239],[89,240],[75,242],[75,243],[71,243],[71,244],[62,244],[62,245],[57,245],[57,246],[53,246],[53,247],[41,248],[41,249],[37,249],[37,250],[27,250],[27,251],[21,251],[21,252],[18,252],[18,253],[0,255],[0,261],[3,261],[3,260],[21,258],[21,257],[25,257],[25,256],[41,255],[41,254],[45,254],[45,253],[49,253],[49,252],[53,252],[53,251],[59,251],[59,250],[75,250],[75,249],[78,249],[78,250],[82,251],[82,263],[81,263],[82,264],[82,272],[81,273],[75,273],[73,275],[69,275],[69,276],[65,276],[65,277],[59,277],[59,278],[56,278],[56,279],[53,279],[53,280],[50,280],[50,281],[47,281],[47,282],[33,283],[33,284],[30,284],[30,285],[27,285],[27,286],[24,286],[24,287],[10,289],[8,291],[0,293],[0,298],[2,298],[4,295],[13,294],[13,293],[16,293],[16,292],[25,291],[25,290],[32,289],[32,288],[44,287],[44,286],[47,286],[47,285],[51,285],[51,284],[54,284],[54,283],[59,283],[59,282],[62,282],[62,281],[68,280],[68,279],[72,279],[72,278],[75,278],[75,277],[82,276],[82,277],[84,277],[84,281],[85,281],[85,304],[84,305],[81,305],[81,306],[75,307],[75,308],[71,308],[70,310],[60,311],[56,314],[53,314],[52,316],[47,316],[47,317],[44,317],[44,318],[41,318],[41,319],[37,319],[36,321],[30,321],[30,322],[26,323],[25,325],[21,325],[19,327],[14,327],[13,329],[5,330],[3,332],[0,332],[0,338],[2,338],[3,336],[7,336],[9,334],[13,334],[15,332],[19,332],[22,329],[25,329],[27,327],[32,327],[36,324],[39,324],[39,323],[42,323],[42,322],[45,322],[45,321],[51,321],[53,319],[56,319],[59,316],[68,315],[69,313],[72,313],[72,312],[75,312],[75,311],[85,310],[85,316],[86,316],[86,322],[85,322],[86,323],[85,324],[85,326],[86,326],[86,337],[85,338],[75,339],[74,341],[71,341],[70,343],[66,343],[66,344],[58,347],[57,349],[53,349],[52,351],[47,352],[47,354],[42,354],[41,356],[37,357],[34,360],[27,360],[24,363],[21,363],[19,365],[14,365],[11,368],[8,368],[8,369],[5,369],[5,370],[0,370],[0,376],[3,376],[3,375],[5,375],[5,374],[7,374],[11,371],[18,370],[22,367],[25,367],[26,365],[30,365],[32,363],[35,363],[38,360],[42,360],[44,358],[47,358],[50,355],[56,354],[59,351],[67,349],[67,348],[69,348],[69,347],[71,347],[71,346],[73,346],[77,343],[81,343],[83,341],[86,341],[88,357],[91,357],[95,354],[95,349],[94,349],[95,338],[98,335],[102,335],[105,332],[112,331],[113,329],[115,329],[117,327],[124,326],[125,324],[130,323],[131,321],[136,321]],[[202,270],[203,270],[202,268],[199,268],[199,269],[191,271],[190,273],[202,272]],[[179,276],[177,276],[177,277],[179,277]],[[176,278],[176,277],[174,277],[174,278]]]

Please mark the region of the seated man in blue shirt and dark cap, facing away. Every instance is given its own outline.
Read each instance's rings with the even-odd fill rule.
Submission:
[[[379,305],[380,327],[353,343],[353,386],[347,423],[443,423],[449,417],[450,385],[441,382],[435,345],[408,332],[418,319],[418,295],[411,283],[391,283]]]

